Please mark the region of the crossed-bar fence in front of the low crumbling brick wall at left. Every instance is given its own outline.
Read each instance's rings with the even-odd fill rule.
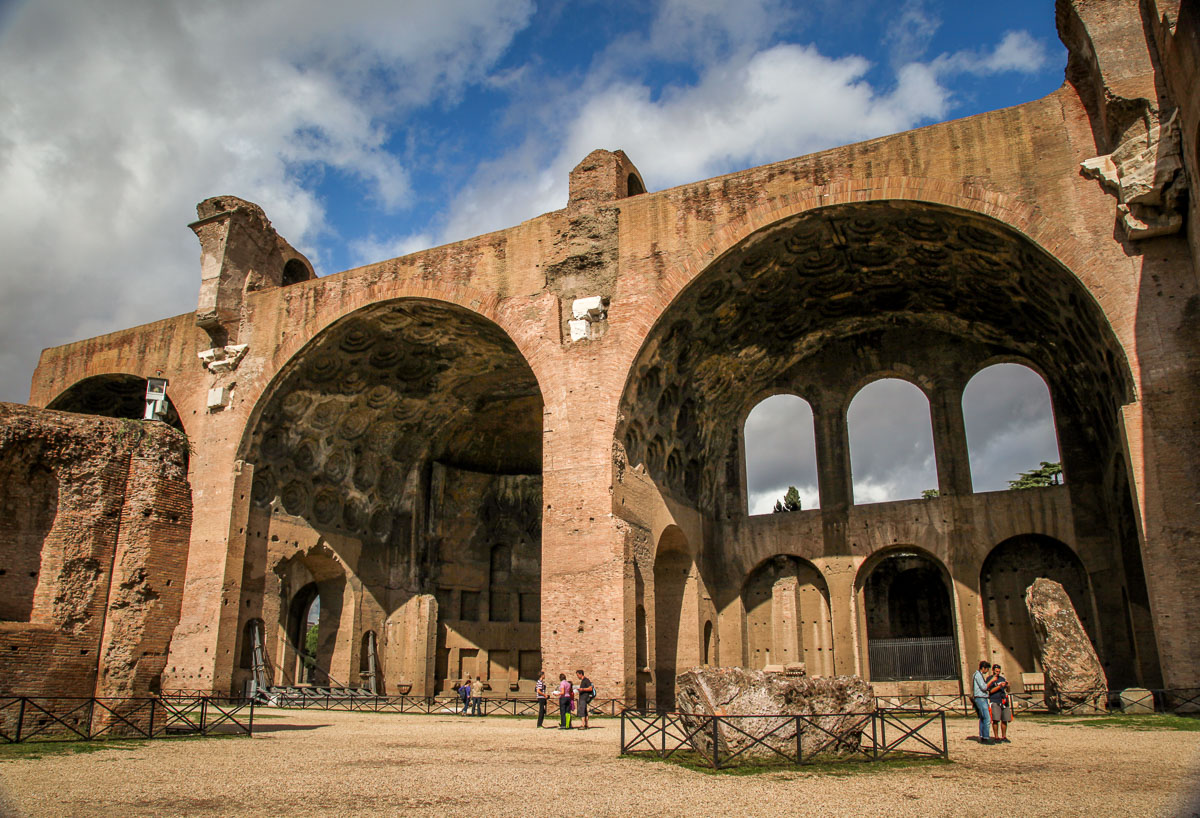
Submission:
[[[218,696],[0,696],[0,742],[252,735],[254,702]]]

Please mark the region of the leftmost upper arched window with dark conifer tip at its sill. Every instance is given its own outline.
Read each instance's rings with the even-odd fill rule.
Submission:
[[[767,515],[796,488],[802,509],[820,509],[812,407],[794,395],[773,395],[746,416],[746,507]]]

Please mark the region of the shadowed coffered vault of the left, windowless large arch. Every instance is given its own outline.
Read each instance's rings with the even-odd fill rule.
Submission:
[[[407,536],[409,495],[438,463],[493,475],[493,512],[536,539],[541,389],[492,318],[503,311],[469,291],[449,293],[466,305],[407,291],[338,303],[278,353],[239,446],[251,509],[278,503],[323,534],[384,545]]]

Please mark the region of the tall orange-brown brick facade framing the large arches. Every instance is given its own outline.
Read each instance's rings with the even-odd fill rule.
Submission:
[[[260,465],[252,459],[256,434],[272,401],[292,389],[293,373],[331,329],[373,305],[415,301],[438,302],[469,317],[463,324],[494,324],[536,380],[542,429],[541,660],[551,674],[584,667],[606,692],[630,699],[654,694],[654,685],[672,668],[658,667],[660,639],[640,633],[640,622],[655,630],[679,626],[654,611],[660,552],[686,554],[683,565],[690,560],[691,567],[682,593],[695,595],[686,615],[695,619],[697,633],[703,622],[715,622],[716,642],[734,657],[744,621],[739,589],[760,559],[791,554],[809,560],[826,583],[835,667],[865,670],[859,572],[864,565],[870,571],[896,545],[925,549],[948,572],[966,667],[991,650],[979,573],[989,549],[1009,536],[1037,534],[1054,536],[1082,560],[1096,619],[1109,622],[1093,638],[1105,643],[1110,657],[1136,664],[1146,680],[1200,685],[1200,640],[1194,638],[1200,607],[1190,573],[1181,570],[1194,561],[1200,534],[1200,510],[1193,501],[1200,455],[1194,411],[1200,384],[1198,207],[1186,210],[1180,231],[1134,237],[1122,227],[1118,207],[1126,205],[1120,196],[1080,173],[1080,163],[1098,154],[1148,139],[1146,124],[1178,108],[1182,173],[1184,182],[1192,180],[1195,198],[1200,20],[1187,4],[1145,5],[1150,13],[1142,16],[1128,2],[1061,0],[1057,17],[1070,53],[1068,82],[1022,106],[655,193],[637,193],[640,176],[624,154],[595,151],[572,173],[564,210],[323,278],[286,275],[296,254],[254,205],[233,197],[202,204],[194,225],[204,282],[198,312],[46,350],[30,397],[34,405],[47,405],[102,374],[161,372],[170,379],[170,398],[196,447],[188,473],[196,523],[186,572],[173,584],[178,588],[182,579],[182,613],[163,685],[226,692],[239,684],[236,658],[248,619],[274,616],[278,621],[271,625],[286,630],[281,612],[287,600],[268,600],[269,583],[247,581],[274,576],[269,558],[254,563],[254,554],[271,548],[256,543],[252,534],[266,542],[278,536],[282,542],[304,541],[305,548],[329,547],[329,559],[354,563],[350,573],[361,567],[361,537],[338,546],[344,531],[325,530],[277,506],[260,525],[250,522],[259,513],[251,510],[254,469]],[[674,491],[653,458],[631,458],[623,401],[644,375],[638,362],[656,354],[672,323],[686,318],[707,326],[720,318],[716,309],[707,315],[676,312],[689,285],[713,281],[722,259],[809,216],[836,219],[839,213],[870,212],[853,207],[884,204],[902,204],[947,224],[983,225],[1016,241],[1019,252],[1045,265],[1048,285],[1069,284],[1084,294],[1068,311],[1100,317],[1092,349],[1110,350],[1109,363],[1121,373],[1121,383],[1093,395],[1091,405],[1084,401],[1075,416],[1078,439],[1062,440],[1064,458],[1074,458],[1082,469],[1076,473],[1088,475],[1072,483],[1069,499],[1026,498],[1025,505],[1009,507],[1015,500],[948,497],[936,511],[925,506],[917,515],[918,522],[925,513],[943,516],[916,527],[907,523],[907,507],[851,507],[836,488],[847,479],[848,455],[841,415],[833,409],[818,413],[822,493],[833,492],[833,501],[823,501],[820,515],[802,516],[803,522],[739,517],[730,499],[739,492],[736,452],[732,461],[701,464],[703,479],[722,487],[713,495],[720,516],[712,504]],[[1138,212],[1146,218],[1170,216]],[[571,305],[589,296],[610,299],[604,325],[594,326],[587,339],[571,342]],[[996,306],[998,311],[1010,305]],[[1068,314],[1067,323],[1073,318]],[[1020,355],[1012,344],[1006,354],[1038,368],[1054,338],[1026,342]],[[1040,342],[1046,343],[1038,347]],[[983,344],[977,365],[998,360],[984,353],[1003,357],[1003,350],[985,348],[980,338],[972,343]],[[221,350],[215,355],[221,359],[242,344],[244,357],[232,363],[199,357]],[[926,345],[912,355],[928,361],[936,349]],[[876,360],[884,357],[881,351]],[[922,374],[913,368],[917,362],[904,356],[889,360],[910,366],[914,379]],[[1079,391],[1081,381],[1072,380],[1070,367],[1043,368],[1051,384],[1075,384]],[[944,373],[924,374],[936,381]],[[926,389],[946,494],[970,493],[959,440],[961,413],[954,409],[962,383],[960,378],[947,386],[943,379],[942,386]],[[686,390],[686,384],[679,386]],[[787,387],[794,389],[796,381]],[[770,389],[756,383],[740,395],[738,417]],[[226,399],[214,405],[212,390]],[[839,399],[852,397],[852,385],[839,390]],[[1088,423],[1079,419],[1091,417],[1093,409],[1097,417],[1111,420],[1098,431],[1103,445],[1091,446],[1096,451],[1088,453]],[[1063,420],[1070,419],[1060,417],[1060,427]],[[731,416],[722,422],[739,421]],[[436,432],[431,427],[418,434],[434,438]],[[683,443],[667,440],[668,446],[677,443],[683,451]],[[120,481],[113,480],[106,492],[116,491]],[[414,480],[418,486],[420,480]],[[1123,507],[1132,511],[1123,516]],[[406,547],[415,549],[427,545],[430,535],[420,529],[419,515],[413,521]],[[854,521],[876,527],[880,536],[847,537]],[[358,593],[378,597],[367,585]],[[428,630],[437,621],[430,614],[436,601],[414,599],[421,601],[412,614],[397,608],[373,612],[370,622],[338,620],[344,624],[336,637],[342,643],[329,655],[341,657],[343,676],[358,669],[358,631],[383,627],[378,620],[391,615],[396,633],[408,636],[396,636],[404,646],[385,651],[382,661],[433,667],[439,643]],[[676,655],[701,656],[703,645],[691,644],[700,637],[679,633],[689,645]],[[647,656],[638,655],[642,643]],[[395,670],[392,678],[426,678],[410,667]]]

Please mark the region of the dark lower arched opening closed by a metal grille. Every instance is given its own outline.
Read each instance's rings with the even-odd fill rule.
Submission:
[[[859,599],[871,681],[959,676],[950,584],[941,564],[916,549],[888,552],[864,575]]]

